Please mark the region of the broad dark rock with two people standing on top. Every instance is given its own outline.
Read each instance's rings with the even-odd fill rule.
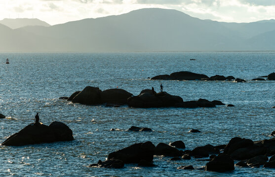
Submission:
[[[172,107],[181,102],[183,102],[181,97],[170,95],[165,91],[155,95],[145,92],[127,99],[128,106],[136,108]]]

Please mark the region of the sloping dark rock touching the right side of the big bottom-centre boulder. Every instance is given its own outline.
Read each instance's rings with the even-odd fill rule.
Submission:
[[[159,143],[155,148],[155,155],[164,155],[169,157],[179,157],[182,155],[182,152],[176,148],[173,148],[164,143]]]

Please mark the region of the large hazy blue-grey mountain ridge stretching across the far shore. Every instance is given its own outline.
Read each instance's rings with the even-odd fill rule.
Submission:
[[[275,23],[224,23],[147,8],[49,27],[0,26],[0,39],[0,51],[275,50]]]

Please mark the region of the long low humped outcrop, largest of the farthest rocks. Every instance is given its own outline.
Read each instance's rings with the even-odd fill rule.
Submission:
[[[209,78],[204,74],[196,74],[190,71],[174,72],[170,75],[158,75],[151,80],[201,80],[203,78]]]

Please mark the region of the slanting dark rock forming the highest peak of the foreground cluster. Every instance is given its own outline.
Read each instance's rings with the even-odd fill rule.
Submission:
[[[245,139],[245,138],[242,139],[239,137],[235,137],[235,138],[232,138],[229,141],[229,143],[226,145],[224,149],[224,153],[231,154],[236,149],[245,148],[253,145],[254,145],[254,142],[250,139]]]

